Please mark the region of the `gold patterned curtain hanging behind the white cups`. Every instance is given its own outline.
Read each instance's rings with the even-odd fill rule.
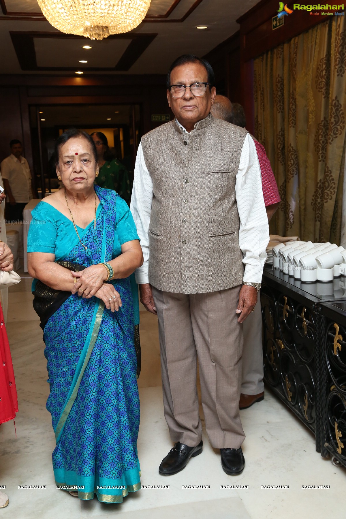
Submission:
[[[346,22],[334,16],[254,61],[255,136],[282,203],[271,232],[339,243]]]

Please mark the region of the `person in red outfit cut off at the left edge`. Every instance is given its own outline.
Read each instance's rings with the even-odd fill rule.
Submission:
[[[6,243],[0,242],[0,269],[13,268],[13,254]],[[10,348],[5,328],[3,309],[0,305],[0,425],[13,420],[18,413],[18,399]],[[0,491],[0,508],[8,505],[8,497]]]

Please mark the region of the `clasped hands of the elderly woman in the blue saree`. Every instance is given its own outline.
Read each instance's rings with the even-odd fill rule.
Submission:
[[[108,277],[105,267],[102,265],[91,265],[80,272],[71,270],[76,282],[72,289],[73,294],[77,294],[86,299],[95,296],[101,299],[105,307],[112,312],[118,311],[122,302],[119,292],[110,283],[105,283]]]

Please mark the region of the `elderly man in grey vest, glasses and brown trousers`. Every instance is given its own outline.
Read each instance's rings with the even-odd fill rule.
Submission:
[[[240,421],[242,323],[257,302],[269,241],[261,174],[245,129],[214,119],[210,64],[171,65],[174,121],[143,136],[131,211],[141,238],[141,302],[157,313],[164,415],[174,447],[162,475],[202,452],[197,359],[206,432],[227,474],[245,465]]]

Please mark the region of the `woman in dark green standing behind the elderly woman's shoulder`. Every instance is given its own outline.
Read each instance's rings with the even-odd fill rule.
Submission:
[[[131,185],[128,170],[110,153],[108,140],[104,133],[95,131],[91,133],[91,137],[98,152],[100,166],[100,174],[95,179],[95,183],[106,189],[114,189],[130,206]]]

